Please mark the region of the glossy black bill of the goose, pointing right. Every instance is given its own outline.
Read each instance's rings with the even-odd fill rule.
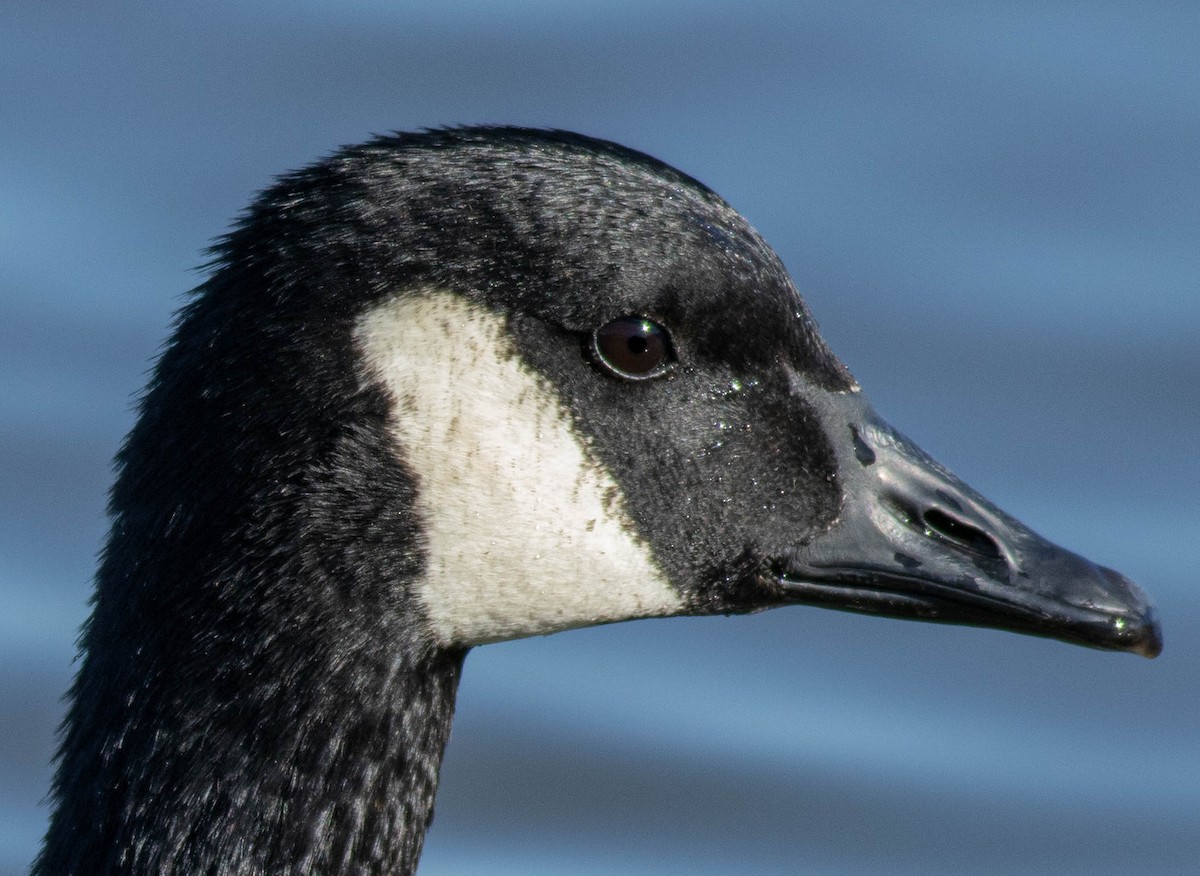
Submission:
[[[797,386],[836,445],[842,512],[780,557],[785,598],[994,626],[1147,658],[1163,648],[1128,578],[1043,539],[888,426],[858,392]]]

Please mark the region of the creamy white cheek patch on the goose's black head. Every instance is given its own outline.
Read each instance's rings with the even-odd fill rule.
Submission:
[[[398,452],[416,476],[418,594],[442,643],[683,608],[503,317],[452,293],[412,295],[366,313],[356,340],[391,392]]]

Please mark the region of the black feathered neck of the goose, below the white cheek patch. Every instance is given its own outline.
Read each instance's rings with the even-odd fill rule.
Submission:
[[[461,666],[310,656],[235,697],[160,679],[130,694],[124,722],[80,714],[79,697],[34,872],[410,874]]]

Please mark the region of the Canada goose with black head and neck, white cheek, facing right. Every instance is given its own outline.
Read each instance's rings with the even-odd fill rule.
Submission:
[[[560,131],[281,176],[116,468],[37,876],[414,872],[488,642],[805,605],[1162,648],[872,410],[714,192]]]

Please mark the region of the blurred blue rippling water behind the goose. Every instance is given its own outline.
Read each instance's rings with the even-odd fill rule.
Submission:
[[[337,144],[484,121],[721,192],[881,412],[1166,650],[816,608],[480,648],[421,872],[1200,871],[1200,4],[6,0],[0,42],[0,874],[203,246]]]

